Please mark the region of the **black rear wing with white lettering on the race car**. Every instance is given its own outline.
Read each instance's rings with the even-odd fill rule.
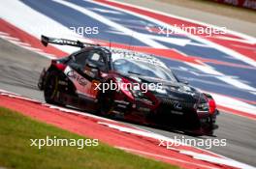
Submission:
[[[71,45],[71,46],[76,46],[76,47],[80,47],[80,48],[83,48],[86,46],[100,46],[100,44],[93,44],[93,43],[89,43],[89,42],[80,42],[80,41],[72,41],[72,40],[66,40],[66,39],[49,38],[44,35],[41,36],[41,42],[45,46],[48,46],[48,43],[59,44],[59,45]]]

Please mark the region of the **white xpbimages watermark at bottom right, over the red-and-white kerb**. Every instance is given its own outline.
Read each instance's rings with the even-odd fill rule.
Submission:
[[[212,147],[227,146],[227,139],[185,138],[184,136],[180,136],[180,137],[175,136],[175,138],[170,141],[159,139],[159,144],[158,144],[158,146],[164,146],[167,149],[172,149],[176,146],[181,146],[181,145],[211,149]]]

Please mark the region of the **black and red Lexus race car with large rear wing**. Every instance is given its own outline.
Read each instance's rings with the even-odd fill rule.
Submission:
[[[80,47],[42,71],[38,86],[48,103],[200,135],[217,128],[214,99],[155,56],[46,36],[42,42]]]

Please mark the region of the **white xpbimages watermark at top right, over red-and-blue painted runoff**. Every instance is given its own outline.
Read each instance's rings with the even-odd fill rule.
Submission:
[[[174,24],[172,28],[169,27],[157,27],[157,34],[159,35],[166,35],[166,37],[169,37],[171,35],[180,34],[182,32],[186,32],[188,34],[192,35],[205,35],[207,37],[211,37],[212,35],[224,35],[227,33],[226,27],[203,27],[203,26],[185,26],[184,24],[177,25]]]

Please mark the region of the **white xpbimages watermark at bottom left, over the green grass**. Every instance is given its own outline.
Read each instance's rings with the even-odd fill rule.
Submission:
[[[46,138],[30,139],[30,147],[42,149],[44,147],[77,147],[84,149],[85,147],[99,146],[98,139],[73,139],[73,138],[58,138],[57,136],[47,136]]]

